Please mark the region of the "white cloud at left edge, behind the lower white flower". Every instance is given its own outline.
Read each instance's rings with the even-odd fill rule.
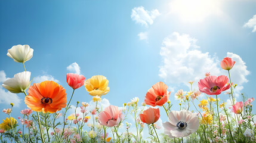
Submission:
[[[1,70],[0,71],[0,83],[1,83],[1,85],[2,85],[2,82],[4,82],[7,79],[9,79],[9,78],[6,77],[6,74],[5,74],[4,70]],[[21,99],[20,99],[20,97],[18,97],[17,94],[13,94],[9,91],[5,92],[5,89],[1,86],[0,87],[0,104],[10,105],[11,102],[13,102],[14,107],[20,107]],[[8,108],[8,106],[5,107],[5,108]]]

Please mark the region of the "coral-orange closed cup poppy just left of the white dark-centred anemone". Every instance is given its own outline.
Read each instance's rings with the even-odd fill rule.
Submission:
[[[160,117],[159,108],[148,108],[140,114],[140,120],[146,124],[156,123]]]

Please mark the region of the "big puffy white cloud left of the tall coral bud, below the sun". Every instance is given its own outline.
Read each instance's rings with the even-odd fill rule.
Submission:
[[[159,76],[166,83],[184,83],[189,86],[189,80],[195,80],[197,83],[205,77],[206,72],[213,75],[221,73],[217,58],[211,57],[208,52],[199,51],[200,47],[196,45],[196,41],[189,35],[180,35],[177,32],[164,39],[160,51],[162,64]]]

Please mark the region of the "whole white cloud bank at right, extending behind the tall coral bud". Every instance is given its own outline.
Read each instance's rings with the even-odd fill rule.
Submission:
[[[205,77],[206,72],[211,75],[228,76],[226,70],[221,69],[220,61],[222,59],[203,53],[200,47],[196,45],[196,39],[189,35],[172,33],[162,42],[160,55],[162,63],[159,69],[159,76],[166,83],[175,84],[176,86],[184,84],[189,86],[189,80],[195,80],[193,87],[198,89],[198,81]],[[233,69],[230,70],[232,82],[238,84],[235,89],[235,95],[238,97],[243,89],[243,84],[248,82],[246,76],[249,74],[245,62],[239,55],[227,52],[227,57],[236,61]],[[177,87],[171,86],[171,89]]]

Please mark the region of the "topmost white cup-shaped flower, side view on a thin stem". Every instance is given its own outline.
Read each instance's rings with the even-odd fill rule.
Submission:
[[[33,57],[33,51],[29,45],[16,45],[8,49],[7,55],[18,63],[24,63]]]

